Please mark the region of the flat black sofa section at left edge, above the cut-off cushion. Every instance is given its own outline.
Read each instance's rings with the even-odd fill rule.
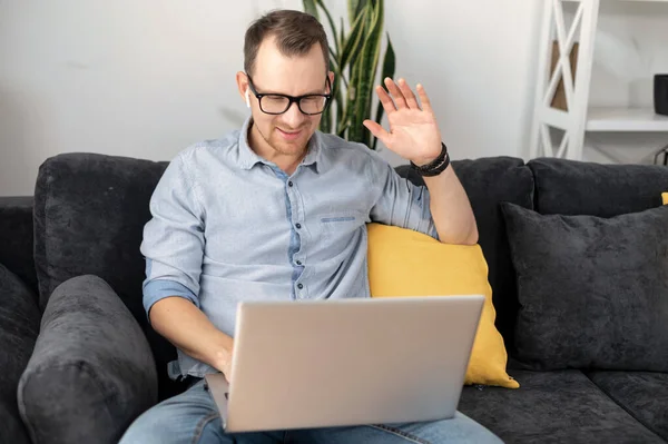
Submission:
[[[32,197],[0,197],[0,264],[37,294]]]

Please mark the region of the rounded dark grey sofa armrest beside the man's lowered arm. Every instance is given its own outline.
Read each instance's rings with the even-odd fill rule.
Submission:
[[[157,393],[148,342],[111,287],[90,275],[59,285],[19,383],[32,441],[117,443]]]

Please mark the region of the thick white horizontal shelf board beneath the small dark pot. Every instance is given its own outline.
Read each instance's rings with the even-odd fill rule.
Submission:
[[[589,108],[587,131],[668,132],[668,116],[654,108]]]

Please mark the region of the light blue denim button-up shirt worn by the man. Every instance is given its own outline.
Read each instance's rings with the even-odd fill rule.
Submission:
[[[316,132],[287,176],[248,147],[249,124],[180,151],[160,178],[141,243],[147,314],[180,296],[234,336],[240,300],[370,297],[370,221],[438,238],[428,189],[375,151]],[[170,368],[210,372],[180,351]]]

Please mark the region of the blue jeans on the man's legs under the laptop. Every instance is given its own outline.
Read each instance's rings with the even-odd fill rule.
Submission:
[[[430,423],[363,425],[264,433],[223,431],[220,416],[204,381],[165,399],[139,416],[119,444],[259,444],[259,443],[501,443],[468,416]]]

